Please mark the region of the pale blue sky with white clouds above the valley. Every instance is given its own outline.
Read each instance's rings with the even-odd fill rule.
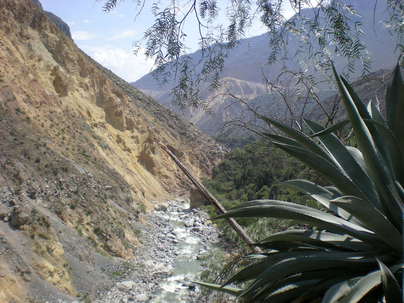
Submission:
[[[112,12],[105,13],[102,6],[105,1],[100,0],[40,0],[45,11],[62,18],[70,26],[72,38],[77,46],[90,55],[98,63],[128,82],[136,81],[146,75],[153,68],[153,59],[146,60],[142,52],[133,53],[133,42],[143,37],[143,33],[154,23],[154,16],[150,13],[152,3],[146,0],[146,6],[137,15],[140,6],[137,1],[127,0],[119,2]],[[154,2],[154,1],[153,1]],[[164,1],[162,1],[164,3]],[[187,3],[182,0],[182,3]],[[219,0],[222,8],[227,0]],[[181,0],[180,0],[181,5]],[[224,20],[225,12],[221,12]],[[285,8],[285,15],[292,16],[293,11]],[[196,51],[197,28],[194,20],[189,19],[186,24],[186,44],[190,52]],[[246,33],[247,37],[265,33],[258,24]]]

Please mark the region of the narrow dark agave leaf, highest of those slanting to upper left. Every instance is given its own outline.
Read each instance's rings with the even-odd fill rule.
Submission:
[[[312,153],[331,161],[326,151],[319,146],[319,144],[315,143],[313,139],[310,139],[302,132],[295,130],[283,123],[277,122],[274,119],[261,116],[262,119],[265,120],[269,125],[275,126],[277,129],[290,136],[292,139],[296,140],[299,144],[303,145],[307,150],[310,150]]]

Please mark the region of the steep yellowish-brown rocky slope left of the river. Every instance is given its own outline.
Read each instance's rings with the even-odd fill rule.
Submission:
[[[96,64],[30,0],[0,0],[0,301],[72,301],[142,244],[143,211],[224,150]]]

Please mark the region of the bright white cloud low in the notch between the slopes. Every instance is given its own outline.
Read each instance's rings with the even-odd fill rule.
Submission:
[[[102,66],[110,69],[122,79],[133,82],[150,72],[153,60],[146,60],[146,56],[139,50],[138,55],[126,52],[121,48],[104,48],[81,45],[86,53]]]

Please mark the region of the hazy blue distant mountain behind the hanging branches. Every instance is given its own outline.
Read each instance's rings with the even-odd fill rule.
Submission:
[[[376,0],[351,0],[347,1],[347,5],[352,5],[361,16],[354,16],[353,19],[354,21],[362,23],[361,28],[366,34],[364,37],[361,37],[361,40],[367,46],[367,50],[372,54],[373,62],[370,72],[393,68],[399,55],[398,52],[395,52],[397,38],[379,22],[379,20],[388,19],[386,2],[376,2]],[[376,11],[373,11],[374,8],[376,8]],[[310,14],[310,11],[303,10],[302,14]],[[291,38],[288,40],[288,52],[290,54],[294,54],[297,47],[296,39]],[[244,100],[253,100],[255,98],[263,99],[267,96],[264,98],[266,99],[265,102],[267,104],[272,103],[273,100],[267,94],[268,88],[263,84],[263,73],[270,79],[274,79],[279,75],[284,65],[299,70],[299,64],[297,60],[290,55],[287,60],[279,60],[271,67],[264,66],[269,57],[269,53],[269,37],[267,34],[240,41],[238,47],[231,50],[228,58],[225,60],[226,65],[221,75],[224,86],[214,92],[209,91],[209,83],[201,86],[201,96],[205,97],[207,100],[219,95],[215,97],[209,105],[210,109],[215,113],[215,116],[209,116],[209,114],[201,109],[189,110],[184,113],[184,116],[200,130],[212,135],[220,129],[229,117],[240,116],[242,111],[245,110],[245,107],[239,103],[230,106],[230,104],[233,104],[236,100],[226,95],[227,92]],[[198,50],[189,56],[193,58],[193,62],[197,62],[201,56],[201,52]],[[334,56],[333,59],[339,71],[346,69],[346,61],[343,58]],[[357,71],[357,74],[359,74],[361,71],[360,65],[357,65]],[[309,74],[310,71],[306,73]],[[143,93],[155,98],[164,106],[180,112],[177,107],[171,104],[171,97],[169,95],[170,82],[168,82],[166,87],[159,87],[156,80],[148,74],[131,84],[140,89]],[[330,92],[325,93],[324,99],[330,95]]]

